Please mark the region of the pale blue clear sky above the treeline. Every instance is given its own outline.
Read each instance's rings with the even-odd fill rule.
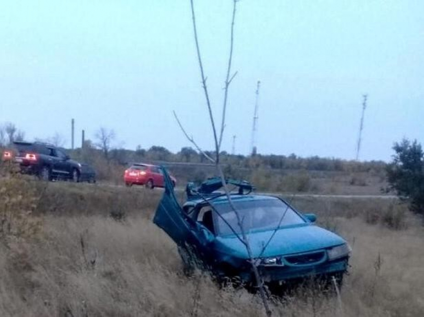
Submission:
[[[135,149],[189,146],[172,115],[212,149],[189,0],[0,1],[0,123],[27,139],[70,144],[100,127]],[[219,121],[231,0],[196,0],[199,38]],[[257,147],[351,159],[369,94],[362,159],[403,137],[424,142],[424,1],[241,0],[223,150]],[[119,142],[117,142],[119,143]]]

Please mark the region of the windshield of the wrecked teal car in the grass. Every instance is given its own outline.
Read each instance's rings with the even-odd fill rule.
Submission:
[[[241,216],[245,233],[252,231],[274,230],[295,224],[303,224],[305,220],[280,199],[263,199],[249,201],[234,201],[234,206]],[[214,207],[222,217],[215,213],[217,234],[220,236],[241,233],[235,212],[228,203],[218,203]],[[225,220],[223,220],[223,219]],[[225,223],[227,222],[227,223]]]

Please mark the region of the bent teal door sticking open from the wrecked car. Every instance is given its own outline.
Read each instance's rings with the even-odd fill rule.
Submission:
[[[164,230],[177,245],[197,245],[199,240],[196,237],[196,224],[178,203],[168,172],[163,166],[160,168],[164,175],[165,192],[156,209],[153,222]]]

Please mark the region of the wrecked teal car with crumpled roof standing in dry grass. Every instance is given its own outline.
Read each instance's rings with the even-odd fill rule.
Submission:
[[[220,178],[209,179],[198,188],[189,184],[188,201],[180,206],[165,170],[164,175],[166,190],[154,223],[176,242],[186,266],[195,257],[215,277],[236,277],[252,285],[254,275],[241,239],[241,222],[254,265],[269,285],[307,277],[328,281],[334,277],[340,283],[347,272],[348,243],[315,225],[314,214],[303,214],[280,197],[252,194],[247,182],[227,180],[228,187],[238,188],[230,197],[239,222],[227,196],[217,191],[222,187]]]

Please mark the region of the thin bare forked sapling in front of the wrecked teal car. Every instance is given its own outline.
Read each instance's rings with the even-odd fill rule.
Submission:
[[[191,9],[192,9],[193,30],[194,30],[194,37],[195,37],[195,42],[196,42],[196,50],[197,50],[197,56],[198,56],[198,61],[199,61],[199,68],[200,68],[200,73],[201,73],[201,80],[202,80],[202,84],[203,84],[203,90],[204,90],[204,94],[205,94],[206,105],[207,105],[207,110],[208,110],[208,113],[209,113],[209,118],[210,118],[210,122],[211,122],[211,126],[212,126],[213,139],[214,139],[215,153],[214,153],[213,158],[210,155],[207,155],[205,153],[205,151],[203,151],[198,146],[198,144],[194,140],[193,136],[188,135],[188,133],[184,129],[183,125],[181,124],[181,122],[178,119],[178,116],[175,112],[174,112],[174,115],[177,119],[177,122],[178,122],[181,130],[185,134],[186,138],[196,147],[196,149],[203,156],[205,156],[207,159],[209,159],[211,162],[213,162],[216,166],[217,172],[218,172],[219,177],[221,178],[221,181],[222,181],[223,189],[224,189],[226,197],[228,199],[228,203],[229,203],[232,211],[235,213],[236,218],[237,218],[237,225],[239,226],[239,231],[241,232],[241,237],[239,235],[237,235],[237,237],[246,248],[246,251],[247,251],[250,263],[251,263],[253,275],[255,277],[256,286],[259,290],[259,294],[260,294],[262,303],[264,305],[266,315],[271,316],[271,310],[270,310],[269,305],[268,305],[268,301],[267,301],[265,289],[263,287],[262,279],[261,279],[259,272],[258,272],[258,269],[257,269],[257,263],[256,263],[256,260],[253,258],[249,240],[248,240],[247,235],[246,235],[246,233],[243,229],[241,215],[237,211],[237,209],[235,208],[235,206],[232,202],[230,192],[229,192],[228,187],[227,187],[226,182],[225,182],[225,176],[222,172],[222,168],[220,166],[220,161],[219,161],[219,153],[220,153],[220,147],[221,147],[221,142],[222,142],[222,136],[223,136],[223,132],[224,132],[224,129],[225,129],[225,114],[226,114],[226,107],[227,107],[228,88],[229,88],[229,85],[231,84],[231,81],[234,79],[235,75],[237,74],[237,72],[235,72],[233,75],[230,76],[230,74],[231,74],[232,52],[233,52],[233,42],[234,42],[234,20],[235,20],[235,12],[236,12],[237,1],[238,0],[233,0],[230,49],[229,49],[229,57],[228,57],[228,63],[227,63],[226,77],[225,77],[225,82],[224,82],[224,99],[223,99],[223,105],[222,105],[221,126],[220,126],[220,130],[219,130],[219,135],[218,135],[217,130],[216,130],[216,126],[215,126],[215,121],[214,121],[214,118],[213,118],[213,115],[212,115],[212,105],[211,105],[211,100],[209,98],[208,87],[206,85],[207,77],[205,76],[202,57],[201,57],[201,51],[200,51],[200,47],[199,47],[194,3],[193,3],[193,0],[190,0]],[[211,203],[212,209],[219,216],[219,212],[216,210],[216,208],[214,208],[213,203],[212,202],[210,202],[210,203]],[[231,230],[234,233],[236,232],[236,230],[234,230],[233,228],[231,228]]]

